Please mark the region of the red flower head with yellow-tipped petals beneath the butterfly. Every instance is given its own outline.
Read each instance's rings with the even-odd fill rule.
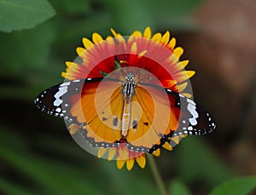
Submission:
[[[111,32],[113,36],[108,36],[106,39],[103,39],[98,33],[93,33],[92,41],[84,37],[84,48],[77,48],[78,60],[66,62],[67,70],[62,72],[62,77],[67,80],[76,80],[109,76],[113,79],[124,80],[127,72],[131,72],[132,68],[137,67],[140,71],[135,74],[134,81],[157,84],[165,89],[171,89],[191,97],[191,93],[186,91],[186,88],[189,78],[195,72],[184,70],[184,67],[189,64],[189,60],[180,61],[183,49],[175,47],[176,39],[170,37],[170,32],[163,35],[161,33],[152,35],[149,27],[143,33],[136,31],[131,33],[129,37],[124,37],[113,29]],[[125,69],[122,69],[123,67]],[[122,70],[122,73],[112,73],[116,70]],[[134,126],[136,125],[134,122]],[[174,120],[173,129],[176,125],[177,120]],[[71,124],[69,129],[71,129],[71,134],[75,134],[79,130],[75,124]],[[160,133],[167,135],[170,133],[168,130],[170,131],[170,129],[163,129]],[[167,150],[172,150],[172,147],[178,144],[181,138],[183,138],[182,135],[170,136],[163,143],[154,141],[153,154],[159,156],[161,146]],[[152,143],[150,142],[148,146],[150,144]],[[126,168],[130,170],[135,161],[142,168],[146,164],[145,152],[131,150],[131,147],[129,148],[125,139],[122,138],[120,138],[120,143],[117,146],[98,147],[97,156],[98,158],[106,156],[108,160],[113,160],[115,157],[118,169],[126,164]]]

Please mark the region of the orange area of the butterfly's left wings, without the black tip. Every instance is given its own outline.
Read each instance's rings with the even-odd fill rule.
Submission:
[[[95,142],[114,143],[121,139],[120,123],[115,122],[120,121],[123,109],[121,83],[104,80],[99,84],[84,83],[81,95],[73,97],[70,112]]]

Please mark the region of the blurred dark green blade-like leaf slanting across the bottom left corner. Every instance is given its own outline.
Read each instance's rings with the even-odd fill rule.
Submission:
[[[3,133],[1,131],[0,135],[4,135],[6,140],[15,138],[17,141],[17,144],[15,143],[15,146],[13,146],[8,141],[3,141],[3,136],[0,136],[0,156],[3,162],[9,164],[12,169],[15,169],[17,174],[19,173],[23,177],[31,178],[33,183],[38,184],[39,187],[34,189],[36,194],[79,195],[89,192],[90,194],[103,194],[100,188],[97,188],[96,185],[90,182],[90,176],[84,176],[85,172],[89,174],[88,171],[81,170],[81,167],[77,168],[73,164],[68,165],[65,162],[32,155],[32,153],[26,150],[26,147],[20,147],[22,145],[21,139],[10,132]],[[6,186],[3,190],[7,192],[9,189]],[[24,190],[24,194],[26,194],[25,192],[26,190]]]

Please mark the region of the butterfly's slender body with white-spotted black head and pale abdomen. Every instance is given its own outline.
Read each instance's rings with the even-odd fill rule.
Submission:
[[[126,80],[123,83],[123,98],[124,109],[122,114],[122,135],[128,134],[128,129],[131,121],[131,97],[135,94],[136,83],[134,83],[134,76],[132,73],[127,73]]]

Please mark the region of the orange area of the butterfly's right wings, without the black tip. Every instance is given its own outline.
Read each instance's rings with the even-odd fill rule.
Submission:
[[[133,146],[151,148],[159,143],[162,135],[169,135],[177,128],[179,110],[172,107],[165,89],[137,85],[131,106],[131,125],[126,137]],[[139,113],[138,113],[139,112]],[[137,120],[134,128],[134,121]]]

